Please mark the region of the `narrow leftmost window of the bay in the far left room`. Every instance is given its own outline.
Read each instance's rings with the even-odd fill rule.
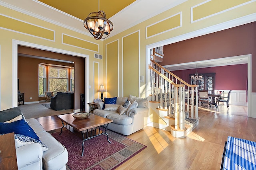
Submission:
[[[38,65],[38,92],[39,97],[44,96],[46,91],[46,66]]]

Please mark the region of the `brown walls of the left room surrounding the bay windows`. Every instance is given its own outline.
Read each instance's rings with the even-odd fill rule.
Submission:
[[[75,92],[74,92],[74,109],[80,109],[80,94],[84,94],[85,81],[85,59],[71,55],[64,55],[60,53],[53,53],[30,47],[18,47],[19,54],[34,55],[46,57],[49,59],[59,59],[64,61],[74,61],[74,64],[62,63],[57,61],[34,59],[28,57],[18,57],[18,78],[20,85],[20,92],[24,93],[24,102],[35,102],[44,100],[45,98],[38,97],[38,64],[58,64],[65,66],[74,66],[75,72]],[[29,99],[32,97],[32,99]]]

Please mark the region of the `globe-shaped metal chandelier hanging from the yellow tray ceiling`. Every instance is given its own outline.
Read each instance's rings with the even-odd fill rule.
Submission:
[[[84,19],[84,27],[93,35],[94,39],[105,39],[113,30],[113,23],[106,18],[104,11],[91,12],[86,19]]]

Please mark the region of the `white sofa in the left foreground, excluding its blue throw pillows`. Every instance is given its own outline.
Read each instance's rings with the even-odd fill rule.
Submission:
[[[18,107],[0,111],[0,122],[15,119],[21,113]],[[34,118],[24,121],[34,130],[40,141],[48,147],[42,147],[38,143],[16,139],[16,156],[19,170],[66,170],[68,151],[50,133],[46,132],[42,125]],[[19,120],[23,121],[23,120]],[[12,123],[12,122],[10,122]],[[23,125],[22,125],[23,126]],[[1,132],[3,133],[3,132]],[[44,151],[43,151],[44,150]]]

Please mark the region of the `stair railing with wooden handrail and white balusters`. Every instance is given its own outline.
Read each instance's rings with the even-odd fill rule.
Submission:
[[[169,117],[175,120],[175,124],[172,128],[175,128],[177,131],[184,131],[184,129],[186,129],[184,123],[185,98],[187,99],[187,111],[190,112],[190,116],[198,117],[198,85],[188,84],[152,60],[149,69],[151,70],[152,101],[159,103],[157,109],[169,109]],[[190,91],[192,92],[191,97]],[[191,100],[190,104],[190,99],[194,99],[194,96],[195,105],[194,100]],[[167,101],[169,103],[167,103]],[[167,104],[169,104],[169,107],[167,107]],[[174,109],[172,109],[172,107],[174,107]]]

